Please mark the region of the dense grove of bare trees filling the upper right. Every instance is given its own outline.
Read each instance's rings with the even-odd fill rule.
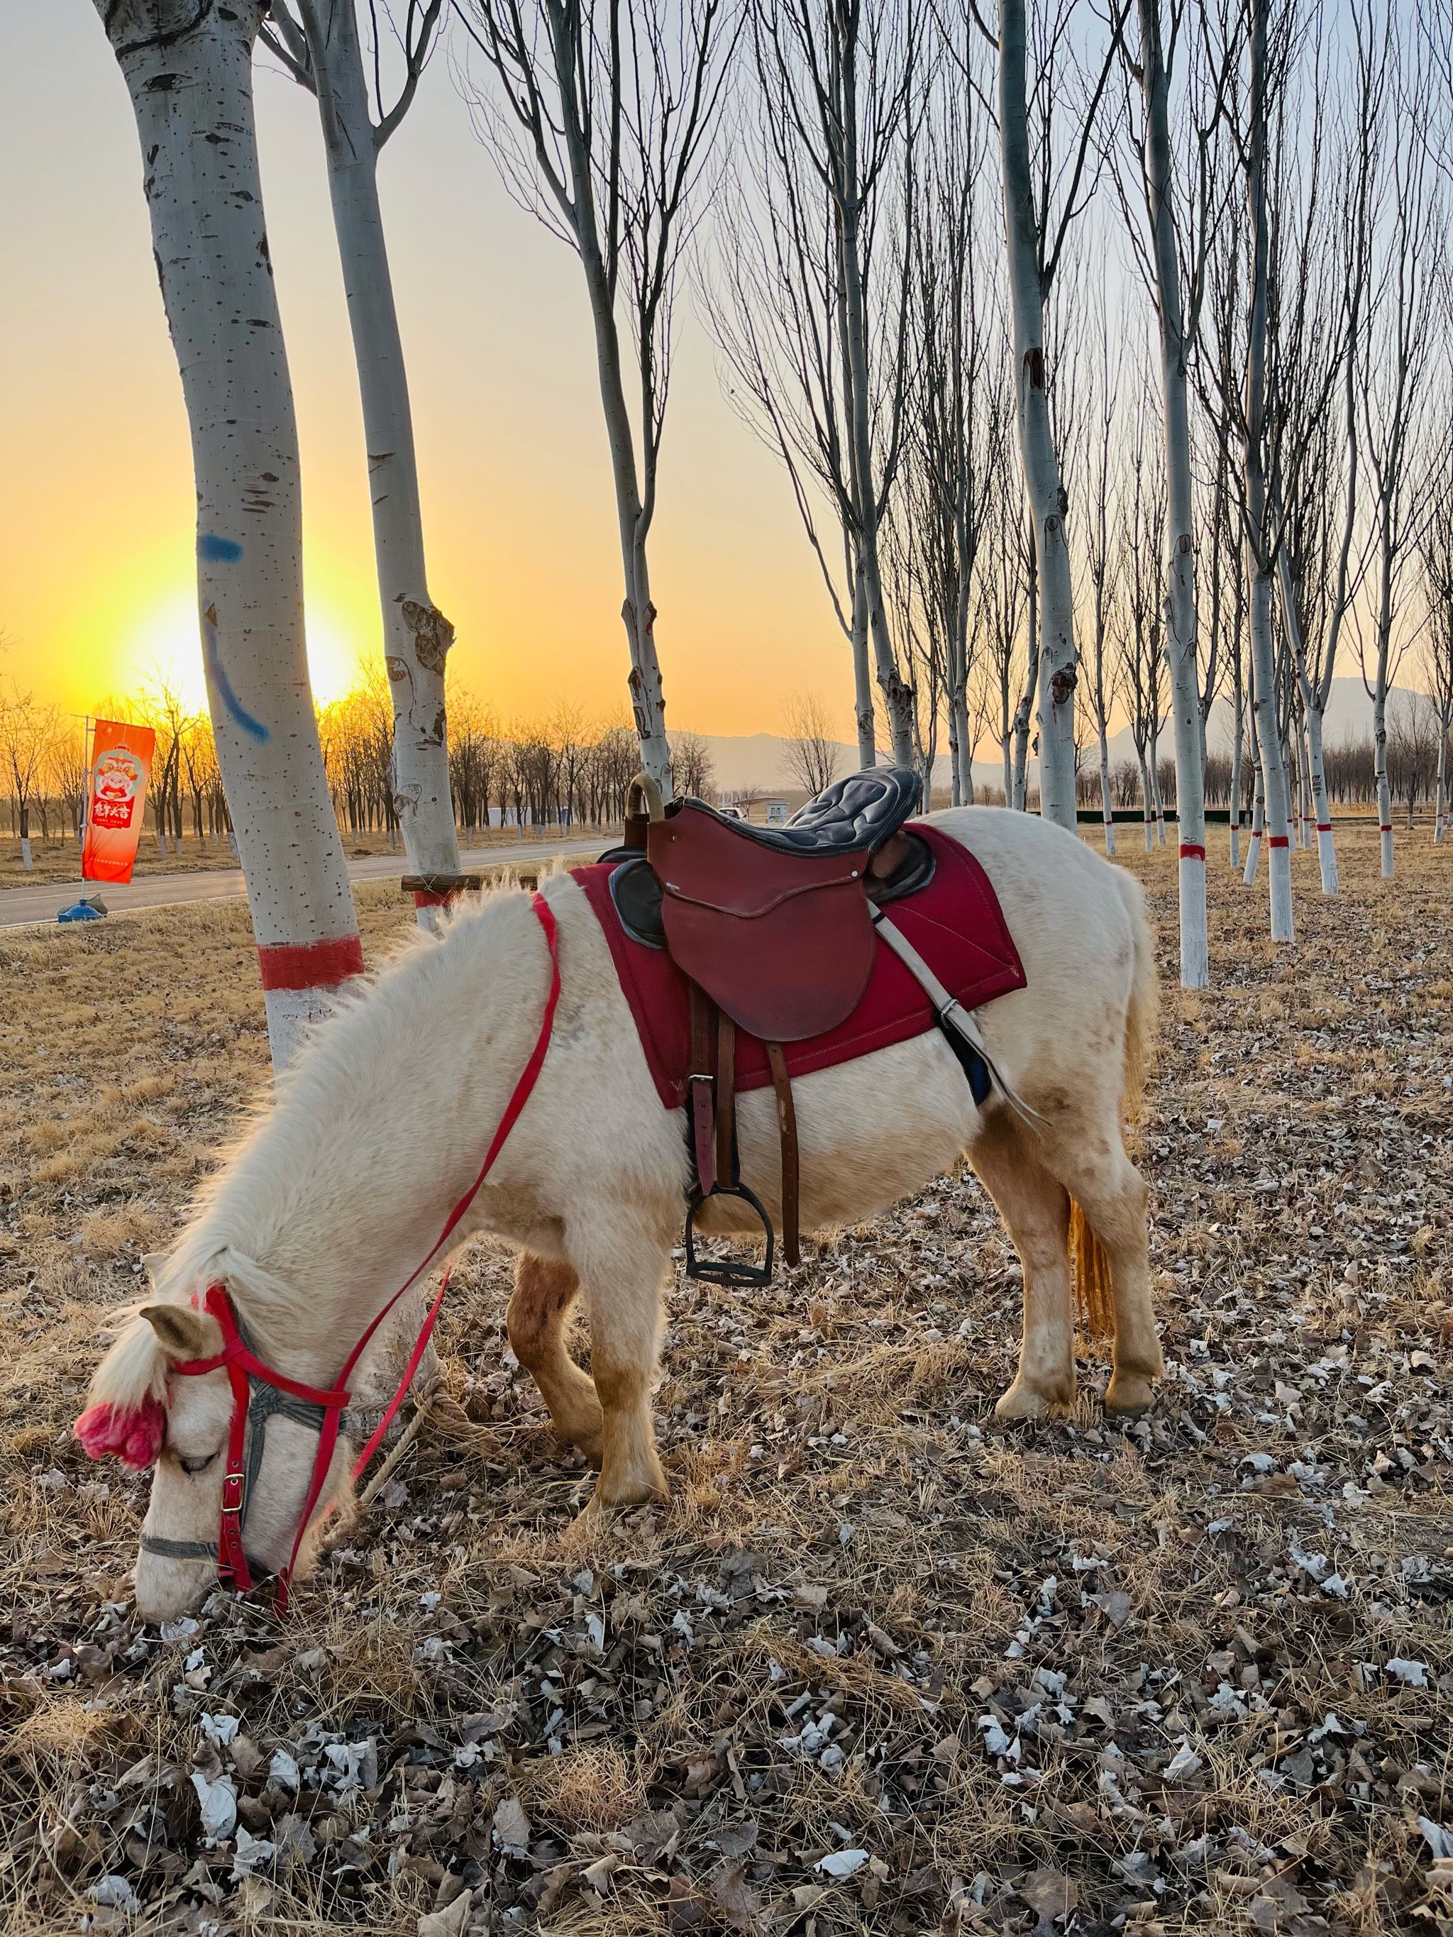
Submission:
[[[1447,721],[1445,46],[1385,0],[746,21],[705,312],[850,645],[860,759],[881,728],[928,773],[945,740],[969,800],[988,738],[1005,800],[1038,755],[1067,821],[1098,742],[1112,845],[1112,717],[1147,814],[1174,750],[1195,986],[1224,695],[1290,939],[1294,800],[1337,889],[1339,670],[1372,703],[1385,872],[1399,666]]]

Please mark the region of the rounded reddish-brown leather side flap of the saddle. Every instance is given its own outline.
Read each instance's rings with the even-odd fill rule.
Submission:
[[[763,1042],[825,1034],[868,986],[868,856],[777,854],[690,804],[647,835],[672,961]]]

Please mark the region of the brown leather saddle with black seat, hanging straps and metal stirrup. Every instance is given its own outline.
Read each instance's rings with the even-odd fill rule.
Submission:
[[[872,767],[818,794],[783,827],[752,827],[703,800],[663,812],[649,781],[632,783],[618,852],[635,866],[618,870],[622,893],[612,876],[612,895],[626,926],[665,945],[690,982],[690,1276],[771,1278],[771,1220],[742,1184],[736,1156],[738,1029],[767,1050],[783,1149],[783,1249],[788,1265],[798,1263],[796,1112],[783,1044],[837,1029],[862,999],[876,949],[870,893],[893,899],[932,872],[926,843],[903,829],[920,794],[911,769]],[[761,1265],[697,1255],[696,1214],[707,1197],[754,1209],[767,1240]]]

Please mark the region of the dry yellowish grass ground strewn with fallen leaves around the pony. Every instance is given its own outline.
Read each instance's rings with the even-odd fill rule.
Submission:
[[[1093,1362],[992,1430],[1017,1265],[955,1178],[769,1292],[678,1286],[676,1497],[587,1532],[480,1247],[283,1627],[139,1627],[145,1482],[68,1437],[263,1079],[246,912],[6,939],[0,1927],[1453,1931],[1453,848],[1383,885],[1343,845],[1281,955],[1213,866],[1217,986],[1168,990],[1133,1431]],[[1170,984],[1174,860],[1128,864]]]

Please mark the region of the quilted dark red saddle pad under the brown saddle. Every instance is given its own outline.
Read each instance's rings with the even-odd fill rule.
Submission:
[[[905,895],[887,907],[891,922],[918,949],[940,982],[951,990],[965,1009],[976,1009],[996,996],[1023,988],[1027,982],[1019,949],[1004,922],[1000,897],[974,856],[924,821],[909,823],[934,850],[934,879],[916,895]],[[657,1094],[668,1110],[686,1102],[692,1034],[686,1005],[686,976],[665,949],[632,939],[620,926],[610,899],[614,862],[570,872],[585,889],[585,897],[610,943],[610,957],[626,992],[641,1048],[657,1085]],[[918,988],[903,963],[878,938],[874,970],[858,1007],[837,1029],[823,1036],[785,1044],[788,1075],[806,1077],[814,1069],[850,1063],[856,1056],[885,1050],[891,1042],[907,1042],[934,1029],[928,996]],[[736,1087],[765,1089],[771,1083],[767,1052],[746,1030],[736,1034]]]

